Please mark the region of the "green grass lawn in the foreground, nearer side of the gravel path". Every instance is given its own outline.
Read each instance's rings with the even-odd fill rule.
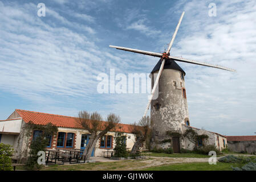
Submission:
[[[231,166],[238,167],[238,164],[220,162],[217,162],[216,165],[210,165],[209,163],[180,163],[144,168],[143,171],[232,171]]]

